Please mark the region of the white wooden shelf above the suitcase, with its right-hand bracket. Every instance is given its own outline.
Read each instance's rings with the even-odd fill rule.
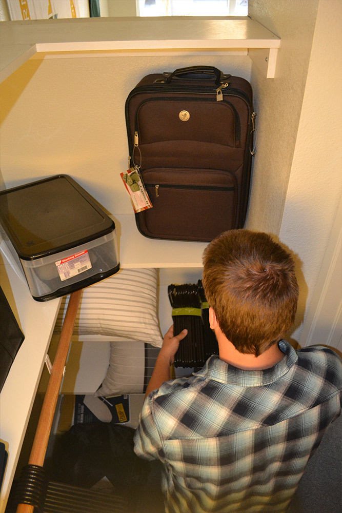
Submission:
[[[274,77],[280,39],[246,17],[78,18],[0,23],[0,81],[29,58],[227,51],[248,53]]]

